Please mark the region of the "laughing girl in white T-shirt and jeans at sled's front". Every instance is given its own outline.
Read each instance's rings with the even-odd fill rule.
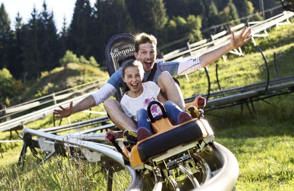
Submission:
[[[175,103],[167,101],[155,82],[142,82],[143,74],[142,63],[138,60],[129,60],[122,66],[122,79],[130,90],[121,98],[120,105],[125,113],[138,123],[138,141],[153,134],[151,122],[146,111],[148,104],[153,100],[164,104],[166,115],[176,125],[192,119],[190,114],[184,112]],[[153,105],[151,110],[154,116],[162,114],[157,105]]]

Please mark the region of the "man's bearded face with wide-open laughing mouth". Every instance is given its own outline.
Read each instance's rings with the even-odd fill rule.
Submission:
[[[142,62],[145,72],[151,71],[156,59],[156,45],[152,43],[140,44],[138,53],[135,52],[135,57]]]

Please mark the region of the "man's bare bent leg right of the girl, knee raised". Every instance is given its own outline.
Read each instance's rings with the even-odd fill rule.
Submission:
[[[164,92],[168,100],[176,103],[181,109],[185,110],[182,91],[168,71],[163,71],[159,75],[157,85],[161,88],[161,91]]]

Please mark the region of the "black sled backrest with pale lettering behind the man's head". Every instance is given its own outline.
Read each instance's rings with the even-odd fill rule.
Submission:
[[[105,47],[105,58],[109,76],[127,60],[135,59],[135,37],[129,33],[112,36]],[[120,101],[122,89],[115,93],[116,100]]]

